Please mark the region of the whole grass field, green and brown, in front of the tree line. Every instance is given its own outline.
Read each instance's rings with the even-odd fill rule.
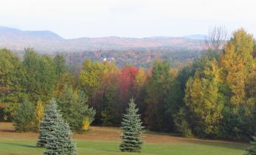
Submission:
[[[246,144],[229,141],[209,141],[196,138],[180,138],[167,134],[147,132],[141,153],[122,153],[119,150],[118,128],[91,127],[91,132],[74,135],[78,154],[86,155],[242,155]],[[11,123],[0,123],[0,154],[42,154],[44,149],[35,147],[38,134],[14,132]]]

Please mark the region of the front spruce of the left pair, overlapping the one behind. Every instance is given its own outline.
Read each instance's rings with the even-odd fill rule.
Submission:
[[[76,144],[72,141],[69,124],[62,118],[54,125],[54,130],[45,144],[45,155],[76,155]]]

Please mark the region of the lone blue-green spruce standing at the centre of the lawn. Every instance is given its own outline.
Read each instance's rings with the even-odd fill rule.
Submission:
[[[140,120],[140,114],[136,108],[134,99],[130,100],[129,107],[126,110],[127,114],[124,114],[122,120],[122,143],[120,144],[120,150],[128,152],[140,152],[143,141],[140,141],[141,134],[143,133],[143,126]]]

